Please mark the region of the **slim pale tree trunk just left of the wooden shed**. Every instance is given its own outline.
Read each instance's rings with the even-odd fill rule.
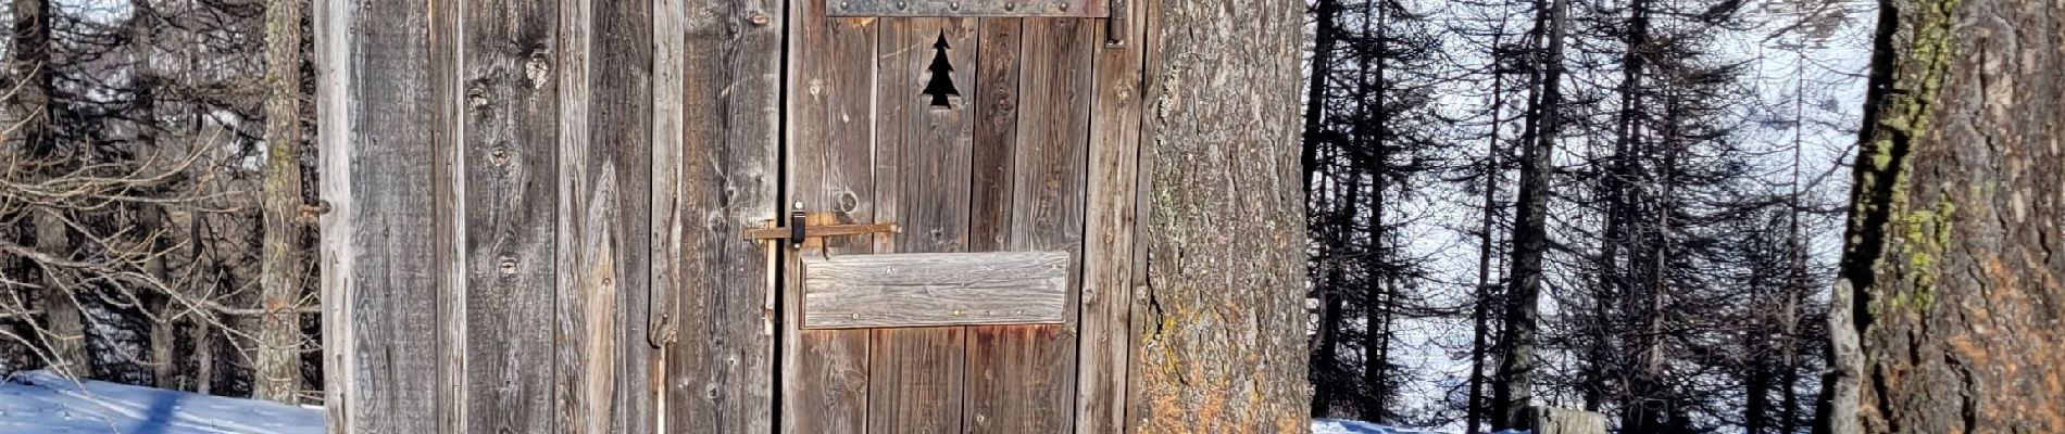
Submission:
[[[252,397],[293,403],[301,393],[301,0],[266,4],[266,177],[260,251],[258,356]]]

